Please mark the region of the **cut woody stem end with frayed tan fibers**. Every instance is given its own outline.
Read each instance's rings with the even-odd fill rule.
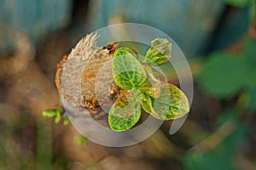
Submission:
[[[60,94],[72,100],[76,105],[85,106],[90,110],[94,110],[99,104],[95,93],[96,77],[102,66],[113,58],[113,48],[116,47],[116,43],[106,46],[108,48],[98,47],[97,37],[96,33],[91,33],[82,38],[71,53],[61,59],[55,74],[55,84]],[[104,74],[106,75],[97,80],[102,82],[102,86],[105,85],[104,82],[113,81],[112,74],[109,72]],[[119,87],[112,83],[107,93],[111,96],[118,91]],[[101,103],[108,103],[109,96],[106,96],[106,101],[101,101]]]

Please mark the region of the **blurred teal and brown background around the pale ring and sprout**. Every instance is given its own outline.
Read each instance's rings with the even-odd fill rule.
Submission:
[[[256,169],[254,0],[0,0],[0,169]],[[136,22],[183,50],[195,94],[183,127],[109,148],[42,116],[56,64],[90,31]],[[178,84],[177,78],[168,78]],[[86,125],[84,125],[86,126]]]

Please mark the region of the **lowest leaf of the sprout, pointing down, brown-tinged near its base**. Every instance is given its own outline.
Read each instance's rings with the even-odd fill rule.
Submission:
[[[108,123],[114,131],[128,130],[138,122],[142,112],[139,95],[137,91],[129,91],[114,102],[108,113]]]

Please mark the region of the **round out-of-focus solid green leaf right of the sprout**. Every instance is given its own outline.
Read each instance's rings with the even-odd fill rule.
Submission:
[[[240,56],[228,52],[212,54],[201,72],[197,82],[207,93],[218,98],[230,98],[242,88],[247,77],[247,65]]]

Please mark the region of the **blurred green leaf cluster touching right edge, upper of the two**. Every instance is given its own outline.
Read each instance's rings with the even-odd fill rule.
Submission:
[[[255,111],[255,47],[255,39],[244,37],[239,54],[227,51],[211,54],[196,77],[201,88],[220,99],[229,99],[244,91],[247,109]]]

